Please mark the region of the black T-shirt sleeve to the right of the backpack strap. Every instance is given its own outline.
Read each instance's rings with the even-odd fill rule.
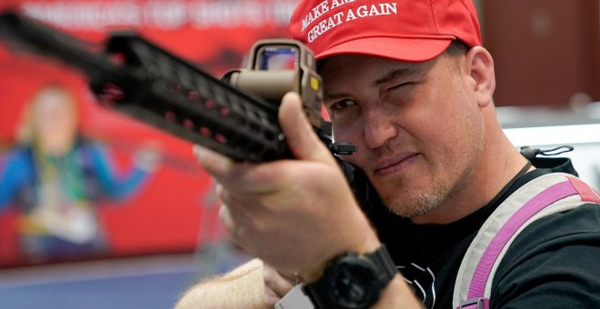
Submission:
[[[538,219],[498,266],[491,308],[600,308],[600,205]]]

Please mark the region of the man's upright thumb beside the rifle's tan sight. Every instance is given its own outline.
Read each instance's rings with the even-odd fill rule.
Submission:
[[[308,123],[302,100],[295,93],[287,93],[279,107],[279,124],[287,140],[287,146],[297,159],[334,162],[329,149],[315,134]]]

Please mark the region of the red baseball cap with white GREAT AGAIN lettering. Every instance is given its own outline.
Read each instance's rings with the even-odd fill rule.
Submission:
[[[317,59],[359,54],[422,62],[455,39],[482,45],[472,0],[304,0],[289,28]]]

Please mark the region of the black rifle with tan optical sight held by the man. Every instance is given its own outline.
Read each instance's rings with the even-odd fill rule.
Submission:
[[[269,100],[265,95],[255,95],[230,85],[232,82],[244,84],[242,76],[245,75],[239,75],[239,72],[228,75],[224,82],[134,33],[113,33],[106,44],[98,48],[12,12],[0,15],[0,37],[18,52],[49,56],[79,69],[88,77],[101,104],[191,143],[204,145],[236,161],[258,163],[291,157],[277,121],[281,97],[275,95],[275,99]],[[256,50],[272,53],[277,52],[275,47],[282,45],[285,48],[300,46],[289,40],[257,45],[253,52],[255,63],[264,65],[265,60],[255,55]],[[296,54],[301,62],[315,66],[307,49],[302,48]],[[265,75],[265,72],[256,74]],[[296,71],[291,80],[295,84],[302,80],[305,84],[294,86],[292,90],[302,92],[308,88],[310,92],[312,85],[312,92],[322,92],[318,84],[320,78],[308,69]],[[269,86],[272,85],[254,88],[267,89]],[[261,93],[260,89],[257,92]],[[303,102],[305,112],[325,145],[334,154],[355,152],[354,145],[332,142],[330,126],[320,117],[320,101],[315,104],[320,96],[301,96],[303,101],[305,96],[311,101]],[[357,173],[351,164],[338,161],[359,203],[363,204],[372,190],[365,175]]]

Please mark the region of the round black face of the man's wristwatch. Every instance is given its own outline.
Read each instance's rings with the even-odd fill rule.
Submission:
[[[327,296],[344,308],[365,308],[379,295],[375,267],[365,260],[343,259],[329,276]]]

